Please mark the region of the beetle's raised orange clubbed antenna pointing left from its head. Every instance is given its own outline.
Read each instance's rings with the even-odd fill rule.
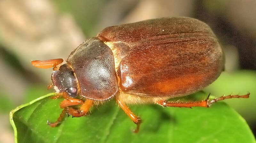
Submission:
[[[56,66],[62,62],[63,59],[33,60],[31,61],[31,64],[36,68],[53,68],[53,70],[56,70]]]

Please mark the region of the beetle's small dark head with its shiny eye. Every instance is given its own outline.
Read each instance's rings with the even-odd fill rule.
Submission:
[[[67,92],[72,98],[77,96],[76,76],[67,64],[52,72],[52,83],[57,93]]]

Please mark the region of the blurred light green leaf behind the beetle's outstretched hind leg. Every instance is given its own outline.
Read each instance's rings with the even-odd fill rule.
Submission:
[[[248,122],[255,124],[256,110],[256,71],[239,70],[233,73],[222,72],[220,77],[204,89],[206,93],[211,92],[216,97],[229,94],[247,94],[249,99],[225,100],[228,105],[235,108]]]

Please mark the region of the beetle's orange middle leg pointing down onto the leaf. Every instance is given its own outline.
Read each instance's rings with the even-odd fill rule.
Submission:
[[[136,129],[133,132],[138,132],[140,129],[141,120],[138,116],[134,115],[132,111],[127,107],[124,103],[122,103],[119,99],[116,99],[118,105],[124,110],[125,114],[137,125]]]

